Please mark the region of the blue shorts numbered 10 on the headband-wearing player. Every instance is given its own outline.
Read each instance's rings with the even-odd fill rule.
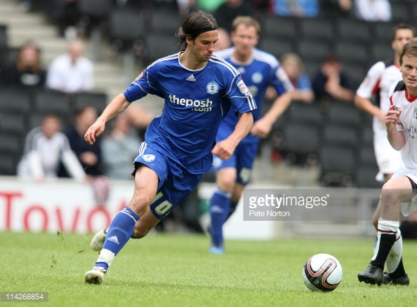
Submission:
[[[135,175],[139,163],[154,170],[159,178],[157,195],[150,209],[157,219],[166,215],[187,198],[201,180],[201,174],[188,172],[180,163],[173,160],[164,146],[159,143],[143,142],[135,158]]]

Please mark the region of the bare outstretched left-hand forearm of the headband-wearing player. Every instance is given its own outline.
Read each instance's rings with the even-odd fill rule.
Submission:
[[[114,118],[118,114],[121,114],[131,103],[126,100],[124,94],[119,94],[110,104],[107,105],[102,114],[97,118],[97,121],[88,128],[86,134],[84,135],[84,139],[88,144],[93,144],[95,142],[95,138],[102,134],[105,130],[105,124],[110,119]]]

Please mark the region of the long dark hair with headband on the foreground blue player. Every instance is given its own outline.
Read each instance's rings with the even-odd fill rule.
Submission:
[[[177,31],[177,37],[180,40],[180,51],[184,51],[187,48],[187,41],[185,40],[187,36],[191,39],[195,39],[199,34],[213,31],[217,29],[216,19],[204,11],[196,11],[190,13],[183,22],[183,26],[180,27]]]

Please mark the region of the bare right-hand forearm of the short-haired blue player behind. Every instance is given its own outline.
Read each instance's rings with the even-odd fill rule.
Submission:
[[[275,100],[267,113],[258,121],[253,124],[251,129],[252,135],[258,135],[258,137],[267,137],[274,125],[275,121],[281,116],[284,111],[289,107],[292,100],[292,91],[279,95]]]

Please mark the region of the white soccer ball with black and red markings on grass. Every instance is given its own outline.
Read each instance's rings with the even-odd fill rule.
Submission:
[[[312,291],[333,291],[340,284],[342,275],[342,266],[330,254],[315,254],[303,267],[304,283]]]

